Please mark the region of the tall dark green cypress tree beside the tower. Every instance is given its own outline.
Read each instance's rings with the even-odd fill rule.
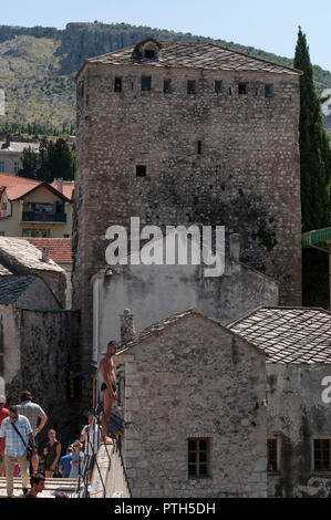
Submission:
[[[330,226],[328,185],[331,179],[331,152],[323,129],[320,100],[313,83],[306,34],[299,28],[294,67],[300,76],[300,170],[302,231]],[[302,251],[302,293],[304,305],[328,306],[328,254],[313,249]]]

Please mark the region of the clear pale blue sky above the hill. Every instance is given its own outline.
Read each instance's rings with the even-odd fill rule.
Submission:
[[[289,58],[301,25],[311,61],[331,71],[330,0],[15,0],[1,9],[0,24],[63,29],[94,20],[220,38]]]

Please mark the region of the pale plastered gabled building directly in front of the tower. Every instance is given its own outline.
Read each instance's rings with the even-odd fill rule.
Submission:
[[[238,240],[230,237],[230,256],[219,278],[205,278],[203,266],[135,266],[130,257],[127,264],[93,275],[93,360],[99,361],[111,339],[121,339],[118,315],[125,308],[141,332],[183,309],[197,309],[226,325],[258,306],[278,305],[278,283],[240,262]],[[165,239],[161,241],[164,246]]]

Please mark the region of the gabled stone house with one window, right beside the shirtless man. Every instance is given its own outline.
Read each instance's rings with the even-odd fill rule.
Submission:
[[[263,351],[195,310],[128,340],[114,361],[133,497],[266,497]]]

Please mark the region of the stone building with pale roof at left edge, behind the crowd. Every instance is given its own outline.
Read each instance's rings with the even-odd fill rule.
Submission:
[[[65,291],[65,273],[22,239],[3,239],[0,256],[2,393],[17,404],[29,388],[48,414],[48,427],[68,444],[82,417],[80,388],[70,381],[79,368],[80,314],[63,311],[56,298]]]

